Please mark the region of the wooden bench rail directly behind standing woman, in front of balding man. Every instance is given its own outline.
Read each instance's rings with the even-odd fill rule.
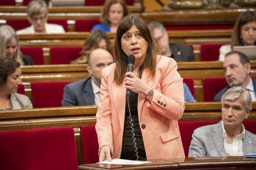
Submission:
[[[179,121],[220,121],[220,102],[185,103]],[[248,120],[256,120],[256,102],[252,104]],[[95,125],[97,106],[34,108],[0,111],[0,132],[50,127],[73,127],[76,137],[78,165],[82,164],[80,127]]]

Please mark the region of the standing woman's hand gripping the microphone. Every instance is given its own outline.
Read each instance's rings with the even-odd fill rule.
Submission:
[[[124,79],[124,84],[126,85],[126,89],[129,89],[137,94],[143,94],[144,96],[148,96],[150,86],[148,86],[145,82],[136,77],[133,72],[126,72],[125,76],[126,78]]]

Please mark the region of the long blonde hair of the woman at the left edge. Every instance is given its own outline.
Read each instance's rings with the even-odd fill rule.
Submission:
[[[22,66],[24,62],[22,61],[22,53],[20,52],[19,38],[15,32],[15,30],[8,25],[4,25],[0,27],[0,57],[6,56],[6,47],[7,44],[11,42],[11,40],[15,38],[17,40],[17,51],[13,57],[16,62],[19,62]]]

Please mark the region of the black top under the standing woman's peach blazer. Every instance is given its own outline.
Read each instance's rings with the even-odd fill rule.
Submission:
[[[143,138],[142,138],[142,134],[141,134],[141,128],[139,126],[139,118],[138,118],[138,108],[137,108],[137,104],[138,104],[138,94],[134,93],[131,91],[130,94],[130,112],[131,112],[131,118],[132,118],[132,123],[133,123],[133,128],[134,131],[133,133],[135,133],[135,142],[137,144],[143,144]],[[134,139],[132,138],[132,128],[131,128],[131,123],[130,123],[130,119],[129,119],[129,110],[128,110],[128,104],[127,104],[127,100],[126,100],[126,106],[125,106],[125,117],[124,117],[124,134],[123,134],[123,145],[126,146],[131,146],[134,145],[134,143],[132,142]]]

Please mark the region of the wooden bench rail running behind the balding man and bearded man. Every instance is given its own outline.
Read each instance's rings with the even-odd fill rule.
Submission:
[[[251,77],[256,77],[256,61],[251,61]],[[50,81],[78,81],[89,77],[87,65],[38,65],[22,66],[22,82],[26,95],[32,99],[30,83]],[[178,62],[178,72],[182,78],[192,78],[195,87],[195,97],[198,102],[203,100],[202,79],[221,78],[224,76],[222,62]]]

